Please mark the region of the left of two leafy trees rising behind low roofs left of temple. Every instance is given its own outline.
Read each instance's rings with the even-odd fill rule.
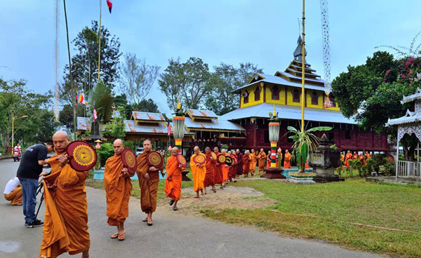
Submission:
[[[166,95],[171,109],[177,107],[180,94],[183,107],[199,109],[205,97],[212,90],[208,64],[198,57],[190,57],[187,62],[168,60],[168,67],[161,74],[159,88]]]

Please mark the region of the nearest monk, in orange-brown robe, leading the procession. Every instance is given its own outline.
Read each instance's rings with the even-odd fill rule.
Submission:
[[[48,159],[51,175],[44,180],[46,215],[39,257],[58,257],[64,252],[89,257],[88,204],[85,180],[89,172],[78,172],[68,163],[67,133],[53,135],[55,153]]]

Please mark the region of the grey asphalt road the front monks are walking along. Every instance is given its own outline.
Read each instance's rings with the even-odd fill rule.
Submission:
[[[0,161],[0,188],[16,174],[18,163]],[[313,240],[280,238],[272,233],[231,226],[193,217],[154,214],[154,226],[141,220],[139,200],[132,198],[126,220],[126,240],[109,236],[115,227],[107,225],[105,192],[88,188],[90,257],[380,257],[376,254],[344,250]],[[38,207],[38,206],[37,206]],[[169,206],[168,206],[169,208]],[[40,216],[44,220],[44,207]],[[42,228],[27,229],[22,206],[0,201],[0,257],[38,257]],[[71,257],[63,254],[62,257]],[[74,257],[74,256],[72,256]],[[80,257],[80,255],[76,255]]]

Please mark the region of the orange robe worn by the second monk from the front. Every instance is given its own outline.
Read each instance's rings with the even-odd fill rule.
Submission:
[[[128,201],[132,190],[130,177],[121,177],[121,156],[112,156],[105,162],[104,186],[107,196],[107,223],[119,226],[128,217]]]

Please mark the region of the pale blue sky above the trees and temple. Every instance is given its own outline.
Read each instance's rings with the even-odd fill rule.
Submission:
[[[99,0],[67,1],[69,36],[99,18]],[[62,1],[60,1],[62,4]],[[293,59],[302,1],[146,1],[102,0],[102,25],[131,52],[157,64],[161,72],[171,57],[184,62],[201,57],[210,67],[220,62],[253,62],[267,74],[284,70]],[[62,8],[62,6],[61,6]],[[421,30],[419,0],[330,0],[332,78],[349,64],[365,62],[375,46],[409,46]],[[44,93],[54,85],[54,1],[3,1],[0,11],[0,76],[27,79],[28,88]],[[307,61],[323,76],[319,1],[306,3]],[[420,41],[421,42],[421,39]],[[72,50],[74,53],[74,50]],[[61,9],[60,71],[67,62],[65,20]],[[158,85],[149,97],[168,112]]]

